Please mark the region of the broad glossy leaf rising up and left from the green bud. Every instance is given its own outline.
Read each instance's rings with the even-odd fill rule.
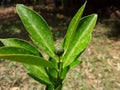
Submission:
[[[35,11],[23,5],[17,4],[16,8],[33,42],[57,61],[58,57],[55,55],[53,36],[45,20]]]

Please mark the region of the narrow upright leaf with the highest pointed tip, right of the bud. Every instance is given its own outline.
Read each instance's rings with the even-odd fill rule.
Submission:
[[[78,10],[78,12],[75,14],[75,16],[73,17],[73,19],[71,20],[65,39],[64,39],[64,49],[65,52],[67,50],[67,48],[69,47],[72,38],[74,37],[75,31],[78,27],[79,21],[81,19],[81,16],[83,14],[84,8],[86,6],[86,2],[84,3],[84,5]]]

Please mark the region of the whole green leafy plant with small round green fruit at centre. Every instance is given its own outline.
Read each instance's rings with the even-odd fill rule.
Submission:
[[[88,46],[96,24],[96,14],[81,17],[85,6],[86,2],[71,20],[63,42],[55,46],[46,21],[35,11],[17,4],[17,13],[34,45],[17,38],[0,39],[4,44],[0,47],[0,59],[23,63],[28,75],[46,85],[46,90],[62,90],[67,73],[81,64],[78,57]]]

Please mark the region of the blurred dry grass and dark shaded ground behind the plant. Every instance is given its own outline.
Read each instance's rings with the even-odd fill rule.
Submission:
[[[54,40],[61,42],[85,1],[0,0],[0,38],[30,41],[15,8],[24,4],[44,17]],[[120,0],[87,0],[83,16],[92,13],[98,14],[93,38],[80,57],[82,65],[68,74],[63,90],[120,90]],[[0,90],[44,90],[44,86],[27,76],[21,64],[0,60]]]

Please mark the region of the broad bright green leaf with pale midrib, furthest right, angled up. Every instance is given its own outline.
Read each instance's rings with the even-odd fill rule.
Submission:
[[[71,44],[62,56],[62,60],[64,62],[63,67],[70,65],[87,47],[91,38],[91,32],[96,24],[96,20],[96,14],[86,16],[80,20],[75,35],[71,40]]]

